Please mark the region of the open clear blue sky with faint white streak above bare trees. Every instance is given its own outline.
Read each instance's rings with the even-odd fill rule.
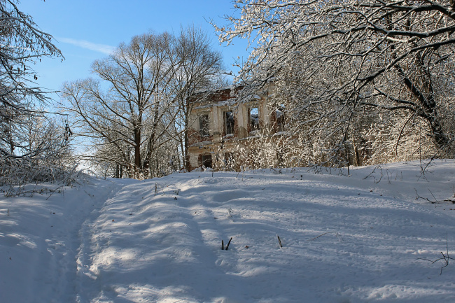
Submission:
[[[232,69],[233,58],[248,57],[246,41],[235,41],[228,47],[219,45],[213,27],[206,21],[226,24],[230,0],[23,0],[19,8],[31,15],[41,30],[55,38],[65,57],[42,59],[34,69],[38,85],[59,90],[62,83],[90,76],[95,59],[109,54],[119,43],[149,30],[178,33],[181,25],[195,24],[213,37],[214,49],[223,53],[225,66]]]

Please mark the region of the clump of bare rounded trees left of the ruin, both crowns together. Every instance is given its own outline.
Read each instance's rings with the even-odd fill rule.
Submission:
[[[85,160],[116,178],[153,178],[186,167],[187,99],[216,85],[221,71],[221,55],[195,27],[120,44],[92,64],[97,78],[64,85],[66,111],[88,145]]]

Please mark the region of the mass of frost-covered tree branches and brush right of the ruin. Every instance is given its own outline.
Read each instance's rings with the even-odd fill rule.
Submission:
[[[273,83],[308,162],[454,156],[449,1],[235,1],[221,42],[248,38],[238,79]]]

